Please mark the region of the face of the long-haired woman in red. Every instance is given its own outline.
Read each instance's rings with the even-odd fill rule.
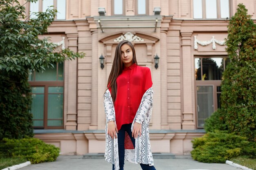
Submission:
[[[128,44],[124,44],[121,46],[121,59],[124,63],[124,66],[129,67],[132,65],[132,49]]]

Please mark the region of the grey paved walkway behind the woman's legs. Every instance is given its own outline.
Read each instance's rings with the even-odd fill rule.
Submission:
[[[157,170],[241,170],[227,164],[200,163],[190,156],[154,159]],[[125,162],[125,170],[141,170],[137,164]],[[19,170],[112,170],[105,159],[82,159],[82,156],[59,156],[54,162],[32,164]]]

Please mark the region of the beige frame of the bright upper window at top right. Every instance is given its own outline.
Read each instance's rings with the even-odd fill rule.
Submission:
[[[229,1],[229,18],[231,17],[231,2]],[[202,18],[194,18],[194,11],[193,11],[193,19],[194,20],[225,20],[226,18],[221,18],[221,9],[220,9],[220,0],[216,0],[216,7],[217,7],[217,18],[206,18],[206,0],[202,0]],[[193,7],[194,10],[194,7]]]

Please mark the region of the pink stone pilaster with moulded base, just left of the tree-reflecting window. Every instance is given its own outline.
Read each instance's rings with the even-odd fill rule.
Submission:
[[[192,33],[181,33],[182,36],[182,68],[183,68],[183,122],[182,129],[195,129],[193,106],[192,106],[192,77],[194,76],[193,56],[191,56]]]

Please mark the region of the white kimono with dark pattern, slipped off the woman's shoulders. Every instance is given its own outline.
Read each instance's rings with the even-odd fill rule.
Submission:
[[[135,118],[132,122],[133,124],[136,121],[141,125],[141,134],[138,138],[135,139],[135,148],[134,149],[125,149],[124,159],[132,163],[143,163],[149,164],[150,166],[154,165],[154,160],[150,148],[149,140],[149,121],[152,113],[153,105],[153,89],[150,87],[143,95],[139,108],[135,115]],[[105,157],[106,161],[109,163],[115,164],[115,170],[119,170],[119,156],[118,156],[118,140],[112,139],[108,135],[108,122],[115,121],[115,108],[112,101],[110,91],[107,90],[104,94],[104,108],[106,113],[106,148],[105,148]],[[131,130],[132,130],[131,128]],[[118,136],[117,136],[118,137]]]

